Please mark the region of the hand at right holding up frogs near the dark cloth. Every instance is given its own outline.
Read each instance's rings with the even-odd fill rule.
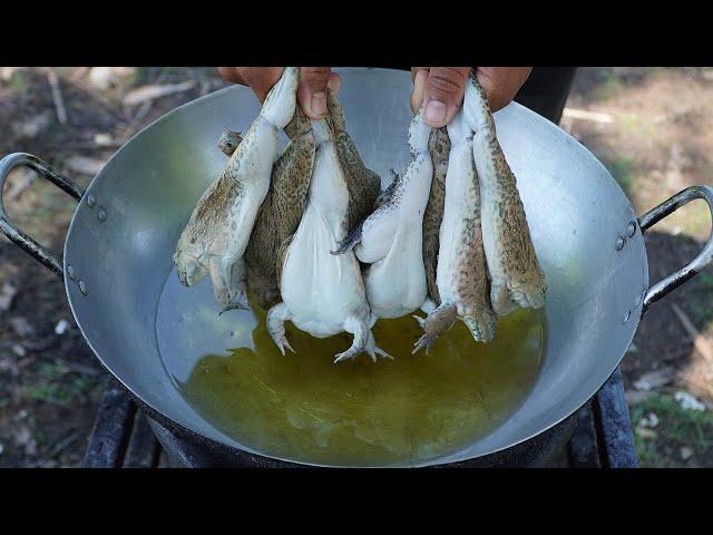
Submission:
[[[433,128],[446,126],[463,103],[470,67],[412,67],[411,110],[416,113],[426,98],[426,123]],[[490,111],[505,108],[525,80],[531,67],[476,67],[478,82],[488,96]]]

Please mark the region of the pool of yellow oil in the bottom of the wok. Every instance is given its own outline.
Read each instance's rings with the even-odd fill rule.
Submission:
[[[388,466],[457,451],[498,427],[525,400],[540,366],[544,314],[500,319],[475,343],[459,321],[426,354],[420,328],[380,320],[372,332],[394,360],[333,363],[351,337],[315,339],[287,323],[296,354],[282,356],[253,307],[255,350],[198,360],[183,395],[214,426],[266,455],[333,466]]]

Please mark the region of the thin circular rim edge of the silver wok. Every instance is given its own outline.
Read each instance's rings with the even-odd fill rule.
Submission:
[[[387,70],[387,71],[398,70],[398,69],[370,68],[370,67],[361,67],[361,68],[353,68],[353,69]],[[244,89],[248,90],[246,88],[244,88]],[[223,94],[229,93],[229,91],[234,91],[234,90],[236,90],[236,86],[227,86],[227,87],[217,89],[215,91],[208,93],[207,95],[204,95],[204,96],[198,97],[198,98],[196,98],[194,100],[191,100],[191,101],[185,103],[185,104],[183,104],[180,106],[177,106],[176,108],[172,109],[170,111],[168,111],[168,113],[164,114],[163,116],[158,117],[156,120],[154,120],[150,124],[146,125],[144,128],[141,128],[136,134],[134,134],[129,139],[127,139],[126,143],[124,143],[124,145],[121,145],[121,147],[119,147],[117,149],[117,152],[114,153],[114,155],[111,155],[111,157],[107,160],[105,166],[99,171],[99,173],[97,173],[95,175],[95,177],[91,179],[91,182],[87,186],[86,192],[85,192],[85,196],[88,193],[90,193],[92,187],[97,187],[95,184],[97,183],[98,179],[101,179],[101,176],[104,176],[105,169],[110,167],[109,164],[115,158],[119,157],[121,155],[121,153],[131,144],[131,142],[134,142],[137,137],[143,135],[145,132],[147,132],[150,128],[154,128],[159,123],[162,123],[164,120],[167,120],[174,114],[179,113],[184,108],[196,106],[198,103],[202,103],[204,100],[212,100],[212,99],[218,98]],[[633,205],[632,205],[632,203],[629,201],[629,198],[626,196],[626,194],[624,193],[622,187],[614,179],[614,177],[611,175],[608,169],[606,169],[606,167],[604,167],[602,162],[587,147],[585,147],[582,143],[579,143],[570,134],[568,134],[567,132],[565,132],[561,128],[559,128],[556,124],[549,121],[545,117],[543,117],[539,114],[533,111],[531,109],[520,105],[519,103],[512,101],[506,108],[509,108],[509,107],[514,107],[515,109],[519,109],[519,113],[525,113],[526,115],[529,115],[533,119],[535,119],[537,121],[540,121],[540,123],[545,121],[547,124],[547,126],[550,127],[550,128],[557,128],[558,130],[560,130],[560,135],[566,136],[572,142],[574,142],[576,146],[579,146],[582,149],[584,149],[603,168],[603,171],[606,173],[606,176],[608,177],[608,179],[612,181],[612,183],[614,183],[614,185],[616,186],[617,191],[621,193],[622,197],[626,201],[626,204],[631,208],[632,213],[637,215],[636,211],[634,210],[634,207],[633,207]],[[82,197],[82,200],[84,200],[84,197]],[[79,225],[79,223],[76,223],[76,220],[77,220],[77,213],[78,213],[78,210],[79,210],[80,205],[81,205],[81,201],[78,204],[78,206],[75,210],[75,212],[72,213],[72,217],[71,217],[70,224],[69,224],[68,230],[67,230],[67,235],[65,236],[65,245],[62,247],[62,266],[64,266],[65,273],[67,272],[67,268],[68,268],[67,244],[69,243],[69,236],[72,234],[72,232],[75,232],[75,226]],[[76,232],[80,232],[80,231],[78,230]],[[645,244],[642,243],[641,247],[644,250],[643,257],[644,257],[644,261],[646,263],[645,273],[648,273],[648,255],[647,255],[646,246],[645,246]],[[111,369],[111,367],[109,364],[107,364],[107,362],[105,362],[105,360],[101,358],[99,352],[95,349],[94,344],[91,343],[91,341],[89,340],[89,338],[85,333],[85,329],[82,327],[82,322],[79,320],[78,313],[75,310],[75,303],[72,302],[72,298],[71,298],[71,294],[69,292],[70,279],[66,274],[62,275],[62,279],[65,281],[65,293],[67,294],[67,301],[69,303],[69,308],[71,310],[72,317],[75,318],[75,322],[77,323],[77,327],[79,328],[79,331],[81,332],[81,335],[82,335],[85,342],[89,346],[89,349],[91,349],[91,352],[95,354],[97,360],[101,363],[104,369],[107,370],[111,374],[111,377],[121,386],[123,390],[125,392],[127,392],[129,395],[129,397],[133,398],[133,400],[135,402],[137,402],[138,407],[141,408],[152,419],[156,420],[158,424],[164,426],[170,432],[173,432],[175,435],[178,435],[179,438],[187,438],[187,439],[189,439],[189,440],[192,440],[194,442],[197,441],[198,444],[207,445],[209,449],[223,450],[223,451],[232,454],[235,457],[248,456],[248,457],[252,457],[252,458],[257,458],[258,463],[263,463],[263,464],[265,464],[265,461],[267,461],[270,464],[276,464],[277,463],[277,464],[291,465],[291,466],[285,466],[285,468],[289,468],[289,467],[292,467],[292,468],[295,468],[295,467],[310,468],[310,467],[312,467],[312,468],[362,468],[362,469],[363,468],[365,468],[365,469],[370,469],[371,468],[371,469],[373,469],[373,468],[452,467],[452,466],[456,466],[456,465],[461,465],[463,463],[468,463],[468,461],[473,460],[473,459],[479,459],[479,458],[487,457],[487,456],[490,456],[490,455],[494,455],[494,454],[498,454],[498,453],[505,451],[507,449],[514,448],[514,447],[516,447],[516,446],[518,446],[518,445],[520,445],[522,442],[531,440],[533,438],[535,438],[535,437],[537,437],[537,436],[539,436],[539,435],[541,435],[544,432],[549,431],[554,427],[558,426],[563,421],[565,421],[568,418],[570,418],[575,412],[580,410],[602,389],[604,383],[609,379],[609,377],[612,377],[612,374],[619,367],[619,364],[622,363],[622,360],[624,359],[624,357],[626,354],[626,349],[624,349],[624,351],[622,351],[622,354],[618,356],[615,359],[615,364],[611,370],[607,371],[606,377],[604,377],[604,379],[600,382],[599,382],[599,380],[597,380],[596,383],[598,383],[598,386],[596,386],[594,388],[594,390],[590,391],[582,402],[575,403],[576,407],[573,410],[566,411],[566,414],[563,417],[555,418],[551,421],[551,424],[548,424],[547,426],[541,427],[536,432],[526,434],[520,439],[517,439],[517,440],[514,440],[514,441],[509,441],[507,445],[501,446],[501,447],[496,447],[496,448],[488,449],[488,450],[482,451],[482,453],[480,453],[480,454],[478,454],[476,456],[467,457],[465,459],[449,460],[447,463],[439,463],[438,458],[436,458],[436,459],[431,459],[431,460],[427,460],[427,461],[422,461],[422,463],[414,463],[414,464],[403,463],[403,464],[394,464],[394,465],[387,465],[387,466],[350,466],[350,465],[328,465],[328,464],[307,463],[307,461],[300,461],[300,460],[295,460],[295,459],[282,458],[282,457],[279,457],[279,456],[273,456],[273,455],[268,455],[268,454],[264,454],[264,453],[258,453],[256,450],[253,450],[253,449],[246,448],[246,447],[245,448],[236,447],[236,446],[234,446],[232,444],[226,444],[223,440],[207,437],[207,436],[205,436],[205,435],[203,435],[203,434],[201,434],[198,431],[195,431],[195,430],[191,429],[189,427],[186,427],[183,424],[179,424],[178,421],[174,420],[169,416],[165,415],[162,410],[159,410],[156,407],[154,407],[153,405],[150,405],[148,401],[146,401],[144,399],[144,397],[140,393],[138,393],[133,388],[130,388],[128,385],[126,385],[126,382]],[[646,288],[648,288],[649,286],[648,275],[646,275],[646,281],[645,282],[646,282]],[[634,311],[632,311],[632,314],[634,314]],[[626,348],[628,348],[631,346],[632,341],[634,340],[634,337],[636,335],[636,332],[638,331],[638,327],[641,324],[642,317],[643,317],[643,309],[642,309],[641,305],[638,305],[638,307],[636,307],[636,318],[635,318],[636,322],[635,322],[635,324],[632,323],[633,328],[629,331],[631,334],[628,337],[628,342],[625,346]],[[518,409],[516,409],[516,411],[519,410],[519,408],[521,408],[528,401],[530,395],[531,395],[531,389],[530,389],[530,392],[528,393],[528,396],[522,400],[522,402],[520,403]],[[510,417],[512,415],[510,415]],[[215,428],[215,426],[213,424],[211,424],[209,420],[207,420],[205,418],[204,418],[204,420],[211,427]],[[506,421],[508,421],[508,419],[504,420],[499,426],[497,426],[496,428],[491,429],[490,432],[488,432],[488,435],[486,435],[485,437],[481,437],[481,439],[486,438],[487,436],[489,436],[492,432],[495,432],[502,425],[505,425]],[[217,428],[215,428],[215,429],[218,432],[225,435],[225,431],[221,431]],[[183,436],[183,437],[180,437],[180,436]],[[467,447],[468,446],[466,446],[465,448],[467,448]],[[462,451],[462,449],[465,449],[465,448],[461,448],[460,451]],[[459,455],[459,451],[447,454],[446,458],[458,456],[458,455]],[[254,461],[254,459],[251,459],[251,460]]]

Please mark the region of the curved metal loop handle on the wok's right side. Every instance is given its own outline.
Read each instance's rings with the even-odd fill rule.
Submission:
[[[653,225],[658,223],[667,215],[673,214],[684,204],[702,198],[709,205],[711,211],[711,218],[713,220],[713,188],[709,186],[691,186],[686,187],[682,192],[676,193],[668,201],[664,201],[655,208],[645,213],[638,218],[638,225],[642,228],[642,233],[646,232]],[[701,271],[706,269],[713,261],[713,235],[709,237],[703,251],[699,255],[684,265],[682,269],[666,276],[663,281],[657,282],[646,291],[644,302],[642,304],[643,312],[646,312],[651,303],[658,301],[664,295],[667,295],[673,290],[678,288],[684,282],[693,279]]]

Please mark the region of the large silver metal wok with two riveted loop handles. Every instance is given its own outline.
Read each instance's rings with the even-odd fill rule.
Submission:
[[[409,159],[410,76],[363,68],[341,69],[341,75],[340,100],[350,133],[367,164],[388,177],[391,167]],[[172,321],[170,314],[162,319],[158,310],[165,286],[177,283],[172,255],[178,235],[224,164],[216,140],[227,127],[245,129],[257,111],[256,99],[243,87],[186,104],[121,147],[86,192],[33,156],[9,155],[0,162],[0,186],[11,168],[27,165],[79,204],[61,263],[17,230],[3,208],[0,228],[62,276],[87,342],[152,417],[199,442],[208,455],[247,451],[268,461],[199,416],[162,361],[162,348],[170,349],[172,343],[206,344],[221,351],[231,347],[229,322],[215,319],[209,282],[175,293],[183,295],[176,300],[193,300],[196,307],[209,309],[209,314],[194,314],[180,323]],[[572,415],[615,370],[647,307],[713,257],[709,241],[693,262],[649,285],[642,233],[694,198],[711,206],[713,189],[687,188],[638,217],[605,167],[560,128],[518,104],[497,113],[495,119],[549,284],[546,352],[531,392],[505,424],[427,465],[499,451]],[[174,310],[179,308],[174,303]]]

